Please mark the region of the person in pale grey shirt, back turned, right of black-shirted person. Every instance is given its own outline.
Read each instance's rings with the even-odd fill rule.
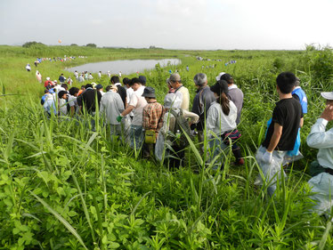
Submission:
[[[113,140],[114,135],[122,135],[121,123],[117,120],[117,117],[120,116],[125,107],[117,91],[117,86],[110,85],[107,88],[107,93],[101,99],[100,113],[105,116],[106,123],[110,125],[111,140]]]

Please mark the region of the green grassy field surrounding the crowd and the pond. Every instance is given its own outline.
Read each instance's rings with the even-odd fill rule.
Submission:
[[[181,59],[177,67],[142,72],[162,103],[169,69],[179,71],[191,100],[195,74],[206,73],[213,85],[219,72],[230,73],[245,94],[239,130],[246,164],[231,166],[230,156],[224,171],[213,173],[191,145],[186,166],[171,172],[111,143],[101,120],[93,132],[85,117],[47,119],[33,62],[65,54],[87,58],[45,61],[37,67],[44,79],[68,77],[65,67],[85,62]],[[230,60],[237,63],[225,66]],[[32,72],[24,69],[28,62]],[[285,70],[300,78],[309,101],[301,131],[305,158],[288,166],[288,179],[268,198],[254,185],[254,156],[278,101],[275,78]],[[317,150],[305,143],[324,107],[320,93],[332,91],[332,79],[331,50],[313,46],[305,51],[0,46],[0,249],[333,249],[331,222],[309,212],[306,181]],[[108,79],[95,82],[105,86]]]

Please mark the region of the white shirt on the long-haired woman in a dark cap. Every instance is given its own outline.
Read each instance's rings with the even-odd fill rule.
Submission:
[[[213,133],[216,135],[221,135],[224,132],[231,131],[237,127],[236,118],[237,118],[237,108],[235,104],[229,102],[230,112],[226,116],[223,113],[221,105],[214,101],[207,111],[207,121],[206,128],[207,134],[210,134],[210,137],[213,137]]]

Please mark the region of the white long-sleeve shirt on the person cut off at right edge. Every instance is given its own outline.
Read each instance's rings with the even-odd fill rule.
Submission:
[[[306,138],[307,145],[319,149],[317,159],[323,167],[333,169],[333,128],[326,131],[328,120],[317,119]]]

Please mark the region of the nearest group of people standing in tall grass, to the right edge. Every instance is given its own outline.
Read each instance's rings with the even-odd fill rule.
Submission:
[[[185,149],[197,136],[201,156],[206,152],[207,163],[215,170],[223,170],[229,152],[235,158],[233,165],[244,165],[238,143],[241,133],[237,128],[244,95],[230,74],[222,72],[215,80],[209,86],[206,74],[193,77],[197,91],[191,110],[189,90],[178,73],[167,78],[168,93],[163,105],[157,101],[155,89],[146,86],[143,76],[125,77],[124,85],[118,76],[112,76],[105,92],[102,85],[94,83],[82,85],[81,89],[69,89],[66,83],[47,85],[41,102],[49,116],[91,117],[93,129],[95,114],[100,112],[105,124],[110,126],[111,140],[126,141],[142,157],[155,157],[167,162],[171,169],[183,165]],[[285,175],[281,166],[302,157],[300,129],[307,113],[306,94],[293,73],[280,73],[276,89],[280,101],[273,109],[264,141],[256,152],[256,161],[262,170],[256,183],[265,183],[270,196],[274,196],[277,182]],[[321,96],[327,100],[327,107],[307,137],[308,145],[319,149],[318,160],[311,165],[316,169],[315,176],[308,181],[317,201],[313,209],[319,214],[328,213],[333,205],[330,198],[333,129],[326,131],[326,125],[333,119],[333,93],[321,93]]]

